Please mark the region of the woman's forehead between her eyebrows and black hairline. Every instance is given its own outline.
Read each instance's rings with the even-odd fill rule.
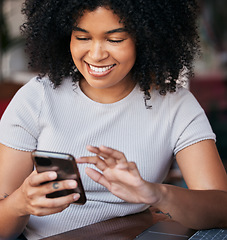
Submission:
[[[120,18],[112,10],[106,7],[98,7],[94,11],[85,11],[83,16],[77,20],[76,26],[84,29],[102,28],[109,30],[122,28],[124,24],[120,22]]]

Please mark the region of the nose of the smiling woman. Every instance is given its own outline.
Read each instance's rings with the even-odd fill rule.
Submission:
[[[95,41],[91,43],[91,47],[89,49],[89,57],[94,61],[102,61],[108,58],[109,53],[105,49],[105,44]]]

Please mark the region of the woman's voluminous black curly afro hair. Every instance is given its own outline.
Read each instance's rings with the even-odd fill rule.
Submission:
[[[40,77],[48,75],[56,87],[67,76],[81,79],[70,53],[72,29],[85,11],[100,6],[117,14],[135,39],[132,76],[148,99],[151,85],[164,95],[176,90],[182,69],[192,75],[198,51],[196,0],[26,0],[21,30],[29,64]]]

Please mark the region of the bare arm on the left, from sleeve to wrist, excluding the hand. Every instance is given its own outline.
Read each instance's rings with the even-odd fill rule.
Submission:
[[[14,191],[32,172],[30,153],[13,150],[0,144],[0,166],[0,238],[6,238],[9,233],[14,233],[12,236],[16,237],[29,220],[29,215],[20,216],[17,213],[20,201]]]

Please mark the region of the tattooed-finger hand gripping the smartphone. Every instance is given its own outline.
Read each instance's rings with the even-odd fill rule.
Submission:
[[[19,194],[19,211],[21,216],[45,216],[58,213],[67,208],[70,203],[79,199],[79,194],[70,194],[59,198],[47,198],[46,195],[64,189],[77,187],[75,180],[54,181],[56,172],[37,173],[33,171],[16,192]],[[52,181],[52,182],[49,182]],[[42,184],[44,182],[48,182]]]

